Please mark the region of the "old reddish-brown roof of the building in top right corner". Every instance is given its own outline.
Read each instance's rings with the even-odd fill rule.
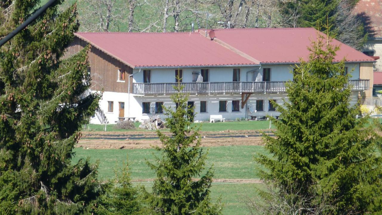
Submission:
[[[353,12],[363,20],[369,37],[382,37],[382,0],[360,0]]]

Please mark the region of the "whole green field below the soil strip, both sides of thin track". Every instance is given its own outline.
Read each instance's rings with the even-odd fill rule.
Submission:
[[[253,156],[256,153],[265,153],[262,146],[221,146],[205,148],[209,150],[207,167],[213,165],[215,179],[256,179],[256,165]],[[145,158],[154,161],[153,149],[83,149],[75,148],[73,163],[81,158],[91,157],[91,161],[99,160],[98,174],[102,181],[114,177],[113,169],[121,167],[128,157],[130,163],[131,179],[155,178],[154,171],[147,165]],[[151,190],[151,182],[144,184],[147,190]],[[221,197],[224,204],[224,215],[248,214],[248,209],[243,202],[246,198],[256,197],[255,187],[262,188],[262,184],[235,184],[214,183],[211,187],[211,198],[216,202]]]

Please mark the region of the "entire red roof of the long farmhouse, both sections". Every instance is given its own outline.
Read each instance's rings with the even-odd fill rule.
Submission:
[[[317,39],[314,28],[214,29],[215,41],[199,32],[76,35],[132,68],[295,64],[308,60],[307,48]],[[340,45],[336,61],[375,62],[335,39],[332,44]]]

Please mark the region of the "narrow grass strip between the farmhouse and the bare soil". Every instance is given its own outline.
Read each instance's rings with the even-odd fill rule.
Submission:
[[[140,122],[134,122],[136,130],[146,132],[148,130],[138,129]],[[199,122],[193,126],[201,126],[202,131],[224,131],[224,130],[259,130],[269,129],[269,121],[232,121],[232,122]],[[132,131],[125,129],[115,129],[115,125],[106,125],[107,131]],[[103,131],[105,125],[88,124],[84,130]],[[274,128],[273,126],[271,128]],[[133,129],[134,130],[134,129]],[[136,131],[135,130],[135,131]],[[163,129],[166,130],[166,129]]]

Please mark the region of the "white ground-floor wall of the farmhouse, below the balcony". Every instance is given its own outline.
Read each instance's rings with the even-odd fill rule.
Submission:
[[[250,113],[248,111],[249,106],[252,106],[254,110],[256,110],[256,100],[264,100],[264,111],[255,111],[253,113]],[[269,109],[269,99],[275,99],[278,104],[283,104],[282,99],[286,99],[287,101],[287,94],[265,94],[265,93],[258,93],[258,94],[252,94],[251,97],[248,99],[247,106],[244,106],[244,108],[241,108],[241,94],[191,94],[189,96],[189,101],[194,101],[195,105],[195,112],[197,113],[195,117],[195,121],[209,121],[210,115],[222,115],[223,118],[226,120],[236,120],[237,118],[244,118],[246,117],[246,112],[248,111],[249,116],[266,116],[271,115],[272,116],[279,116],[280,113],[277,111],[268,111]],[[357,103],[358,99],[358,92],[352,92],[351,94],[351,105],[354,105]],[[232,111],[232,101],[233,100],[239,100],[240,104],[240,111],[233,112]],[[114,108],[113,112],[108,112],[108,101],[113,101]],[[200,101],[207,101],[207,112],[200,113]],[[219,101],[227,101],[227,111],[226,112],[219,112]],[[142,121],[145,119],[148,119],[152,112],[149,114],[142,114],[142,102],[150,102],[151,103],[151,110],[152,108],[155,108],[155,102],[163,102],[163,105],[166,107],[171,106],[175,109],[175,104],[171,101],[170,96],[161,96],[161,95],[151,95],[151,96],[133,96],[128,93],[115,93],[115,92],[104,92],[102,99],[100,100],[99,106],[104,111],[105,116],[107,117],[110,124],[115,124],[118,121],[118,115],[119,115],[119,106],[118,102],[125,102],[125,117],[136,117],[136,120]],[[130,106],[129,106],[130,102]],[[246,109],[247,108],[247,109]],[[165,119],[164,114],[158,114],[159,117],[162,119]],[[92,124],[99,124],[99,121],[97,118],[93,118],[91,120]]]

